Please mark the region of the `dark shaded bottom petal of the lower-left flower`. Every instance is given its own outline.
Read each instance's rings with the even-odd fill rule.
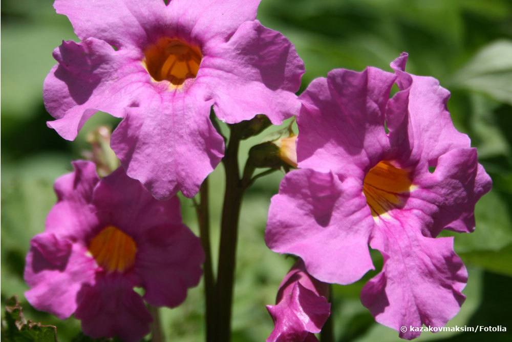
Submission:
[[[138,342],[150,332],[151,314],[133,285],[121,276],[99,278],[94,286],[84,287],[75,317],[81,319],[87,335],[118,336],[126,342]]]

